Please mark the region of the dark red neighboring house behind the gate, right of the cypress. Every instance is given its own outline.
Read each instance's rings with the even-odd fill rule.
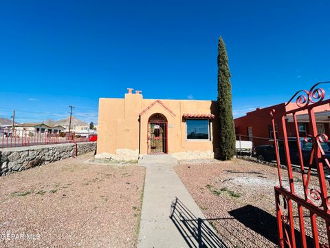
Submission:
[[[296,103],[280,103],[278,105],[273,105],[270,107],[256,108],[252,112],[246,113],[245,116],[235,118],[235,132],[236,138],[241,138],[243,140],[253,141],[255,145],[267,145],[273,142],[274,132],[272,129],[272,116],[270,111],[275,110],[276,116],[281,116],[289,110],[294,110],[298,106]],[[321,105],[315,107],[314,110],[316,116],[316,123],[319,134],[327,134],[329,136],[330,132],[330,107],[329,105]],[[306,111],[298,112],[296,114],[298,121],[298,130],[300,136],[306,136],[309,134],[309,117]],[[283,137],[282,125],[280,124],[281,120],[275,118],[275,132],[277,138]],[[287,136],[294,137],[296,136],[296,131],[294,127],[294,121],[292,115],[285,116],[285,123],[287,126]],[[246,137],[248,136],[248,137]]]

